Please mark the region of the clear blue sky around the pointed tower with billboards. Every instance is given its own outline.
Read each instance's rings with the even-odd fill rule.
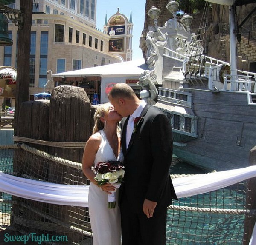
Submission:
[[[130,13],[134,24],[133,28],[133,60],[141,59],[142,51],[139,48],[140,35],[144,27],[146,0],[97,0],[96,28],[103,30],[105,24],[105,16],[109,19],[116,14],[117,8],[119,12],[124,14],[128,20]]]

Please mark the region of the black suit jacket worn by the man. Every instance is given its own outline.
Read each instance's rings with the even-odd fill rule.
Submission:
[[[146,105],[136,131],[126,149],[126,128],[129,117],[122,119],[122,151],[125,178],[119,201],[129,202],[134,212],[143,212],[144,199],[157,202],[157,209],[177,199],[169,168],[172,162],[172,127],[166,115]]]

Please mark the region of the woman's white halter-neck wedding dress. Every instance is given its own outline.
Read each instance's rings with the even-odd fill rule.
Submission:
[[[99,131],[102,137],[99,150],[96,153],[94,165],[98,162],[121,161],[122,152],[116,158],[103,130]],[[118,201],[116,191],[116,204]],[[89,187],[89,214],[93,231],[93,245],[121,245],[121,219],[119,207],[108,208],[108,194],[97,185],[90,183]]]

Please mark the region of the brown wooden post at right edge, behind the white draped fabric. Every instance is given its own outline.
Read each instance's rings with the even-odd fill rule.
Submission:
[[[249,165],[256,165],[256,146],[250,150],[250,160]],[[246,209],[256,210],[256,177],[248,180],[247,186],[247,199],[246,199]],[[248,245],[250,242],[250,237],[253,233],[253,228],[256,222],[256,217],[246,216],[244,220],[244,239],[243,245]]]

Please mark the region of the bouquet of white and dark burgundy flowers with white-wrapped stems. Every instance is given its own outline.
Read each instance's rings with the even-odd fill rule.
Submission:
[[[122,162],[119,161],[99,162],[93,168],[96,173],[94,179],[98,186],[110,183],[115,188],[119,188],[125,175],[124,168]],[[115,192],[116,190],[108,194],[108,208],[116,208]]]

